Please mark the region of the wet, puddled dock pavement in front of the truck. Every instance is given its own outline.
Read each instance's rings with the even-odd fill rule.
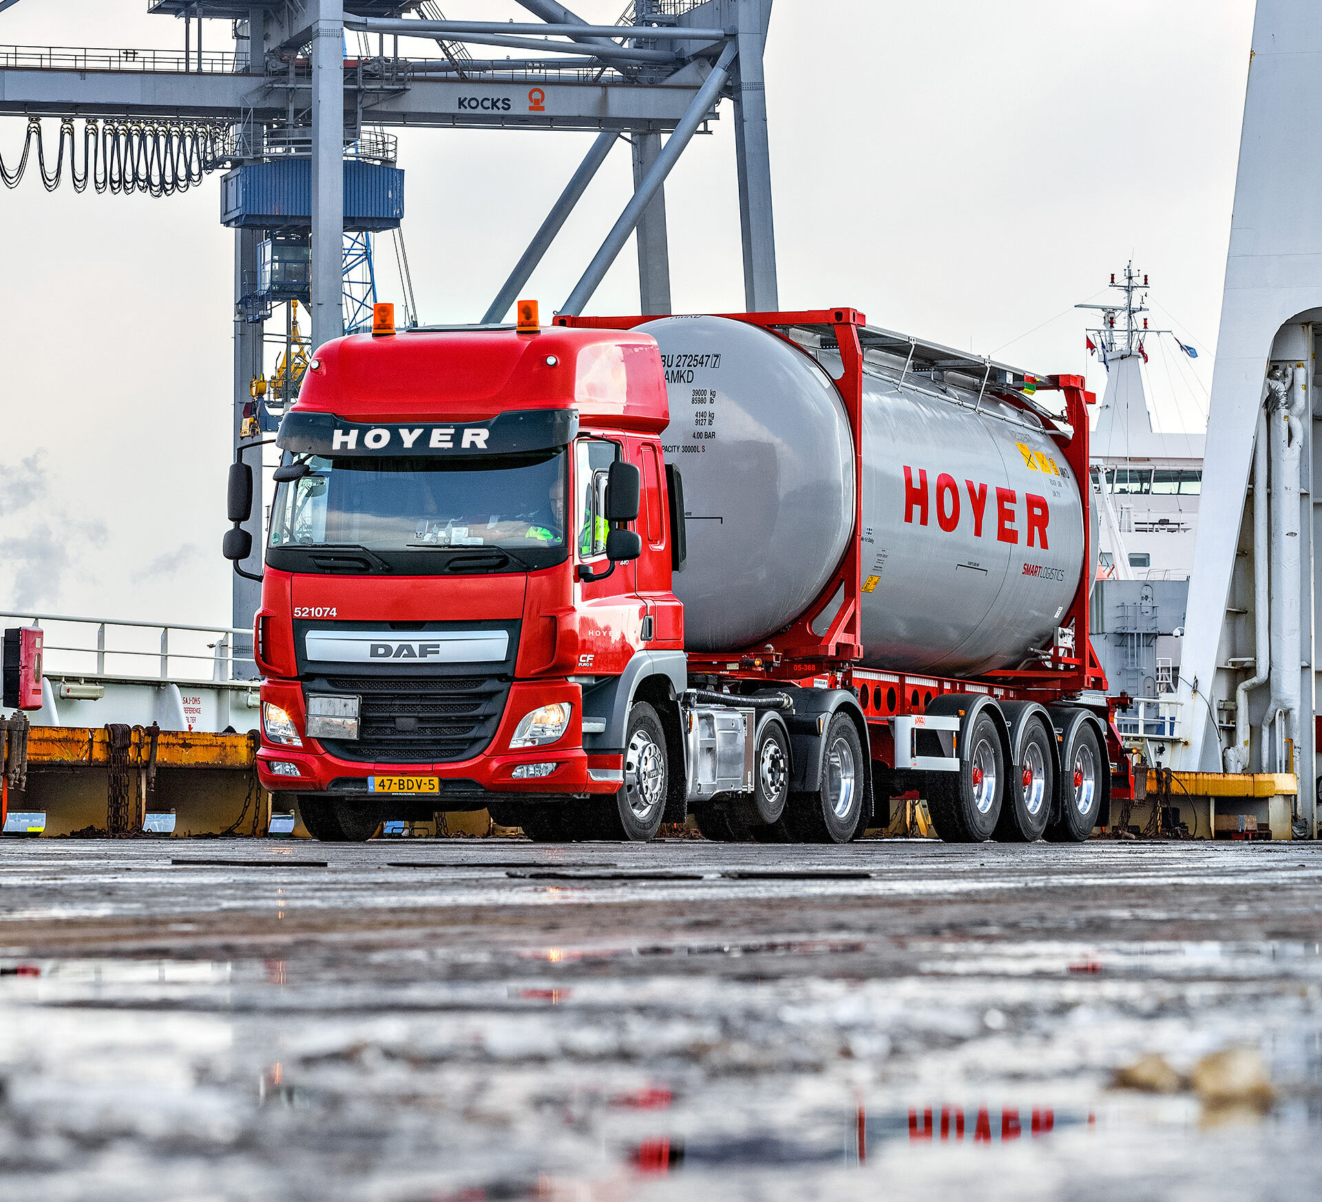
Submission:
[[[1322,845],[7,841],[0,1087],[5,1199],[1315,1195]]]

